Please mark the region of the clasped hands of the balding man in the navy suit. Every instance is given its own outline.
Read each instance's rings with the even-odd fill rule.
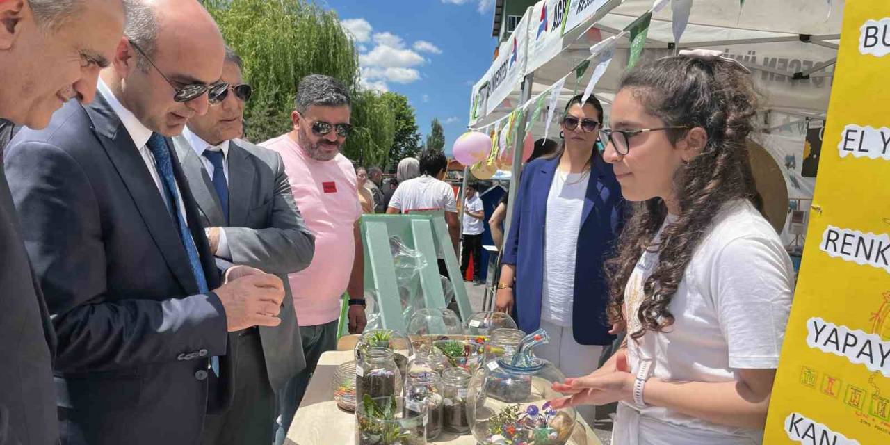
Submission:
[[[226,271],[225,283],[214,293],[223,303],[229,332],[255,326],[275,327],[281,323],[278,318],[284,300],[281,279],[252,267],[235,266]]]

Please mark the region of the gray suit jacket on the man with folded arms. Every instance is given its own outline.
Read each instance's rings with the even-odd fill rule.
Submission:
[[[244,264],[284,281],[285,298],[275,328],[260,328],[263,355],[274,391],[306,367],[303,342],[297,327],[294,298],[287,274],[302,271],[312,262],[315,236],[296,207],[281,156],[249,142],[229,142],[229,223],[198,153],[184,136],[173,139],[191,193],[198,201],[205,227],[225,227],[231,263]],[[217,258],[217,263],[227,263]],[[234,336],[236,334],[232,334]],[[235,378],[238,378],[237,376]]]

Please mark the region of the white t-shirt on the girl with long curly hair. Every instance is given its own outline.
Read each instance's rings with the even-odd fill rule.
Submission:
[[[662,230],[674,221],[668,215]],[[643,283],[658,265],[657,244],[640,257],[627,281],[628,333],[641,327],[636,314]],[[732,382],[739,380],[739,369],[776,368],[794,289],[792,271],[779,235],[756,208],[748,201],[726,204],[668,304],[674,324],[665,333],[648,331],[639,344],[628,339],[631,372],[641,360],[651,360],[651,376],[662,380]],[[615,443],[630,442],[634,434],[640,445],[763,441],[762,430],[716,425],[663,407],[637,411],[621,402]]]

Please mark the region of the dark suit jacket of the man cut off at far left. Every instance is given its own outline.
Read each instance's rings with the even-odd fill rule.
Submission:
[[[11,130],[12,125],[5,129]],[[3,133],[4,125],[0,125]],[[31,271],[19,217],[0,168],[0,445],[51,445],[58,441],[54,351],[53,325]]]

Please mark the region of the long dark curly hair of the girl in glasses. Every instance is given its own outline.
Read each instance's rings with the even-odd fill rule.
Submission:
[[[750,74],[731,61],[686,56],[639,65],[623,78],[621,89],[630,90],[635,100],[665,125],[701,127],[708,134],[700,154],[674,175],[680,214],[661,233],[659,263],[643,285],[645,298],[639,312],[627,314],[643,325],[630,333],[632,338],[639,339],[648,330],[663,332],[674,323],[674,315],[667,306],[683,280],[693,251],[721,207],[737,199],[759,204],[746,146],[748,134],[754,128],[758,95]],[[688,132],[668,130],[666,135],[668,141],[676,144]],[[633,207],[617,253],[605,264],[612,322],[627,321],[622,312],[627,280],[644,249],[651,247],[667,215],[661,198],[635,203]]]

